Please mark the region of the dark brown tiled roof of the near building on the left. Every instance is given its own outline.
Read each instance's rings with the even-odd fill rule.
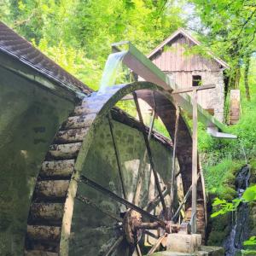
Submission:
[[[9,26],[0,21],[0,51],[11,55],[23,62],[26,66],[32,67],[38,73],[43,74],[62,87],[71,88],[76,91],[89,94],[92,90],[68,73],[62,67],[36,49],[25,38],[20,37]]]

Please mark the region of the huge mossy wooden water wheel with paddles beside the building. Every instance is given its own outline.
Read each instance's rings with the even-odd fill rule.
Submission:
[[[137,172],[129,174],[124,173],[127,168],[113,127],[114,119],[121,116],[114,106],[128,94],[133,95],[137,130],[143,137],[142,154],[134,156],[140,159]],[[143,124],[138,99],[154,109],[149,128]],[[85,97],[56,133],[39,172],[27,221],[26,255],[150,254],[164,243],[166,233],[189,232],[189,224],[184,223],[189,221],[192,143],[178,113],[172,95],[148,82],[115,85],[105,94]],[[151,148],[156,115],[172,137],[173,149],[167,154],[177,157],[176,172],[172,172],[175,160],[161,158]],[[102,145],[94,150],[96,141],[101,143],[103,122],[109,125],[109,143],[107,149]],[[129,139],[124,136],[124,148],[129,148]],[[101,147],[105,153],[100,159]],[[108,166],[110,152],[115,156],[113,172]],[[136,162],[131,164],[134,169]],[[182,178],[183,188],[179,201],[174,189],[177,177]],[[202,198],[200,178],[198,198]],[[187,210],[185,216],[182,209]],[[203,230],[203,211],[198,212]]]

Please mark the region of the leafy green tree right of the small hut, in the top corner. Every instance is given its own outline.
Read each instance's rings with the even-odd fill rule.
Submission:
[[[256,4],[253,0],[191,0],[201,17],[201,32],[212,50],[230,64],[229,89],[238,88],[241,66],[255,50]],[[203,39],[202,39],[203,40]],[[249,86],[247,92],[249,92]]]

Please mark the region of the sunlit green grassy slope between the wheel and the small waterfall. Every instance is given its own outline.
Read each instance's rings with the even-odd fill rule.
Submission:
[[[256,69],[256,61],[253,70]],[[252,72],[252,71],[251,71]],[[205,170],[207,191],[220,198],[234,197],[236,172],[248,162],[256,174],[256,79],[250,75],[251,102],[245,96],[241,78],[241,119],[236,125],[227,126],[225,132],[236,134],[237,140],[216,139],[199,127],[199,150]],[[253,176],[253,182],[255,175]]]

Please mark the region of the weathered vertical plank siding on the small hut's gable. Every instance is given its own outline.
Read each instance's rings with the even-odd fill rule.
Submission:
[[[217,72],[220,70],[220,64],[210,57],[185,54],[186,49],[192,46],[195,44],[189,38],[179,35],[150,59],[164,72]]]

